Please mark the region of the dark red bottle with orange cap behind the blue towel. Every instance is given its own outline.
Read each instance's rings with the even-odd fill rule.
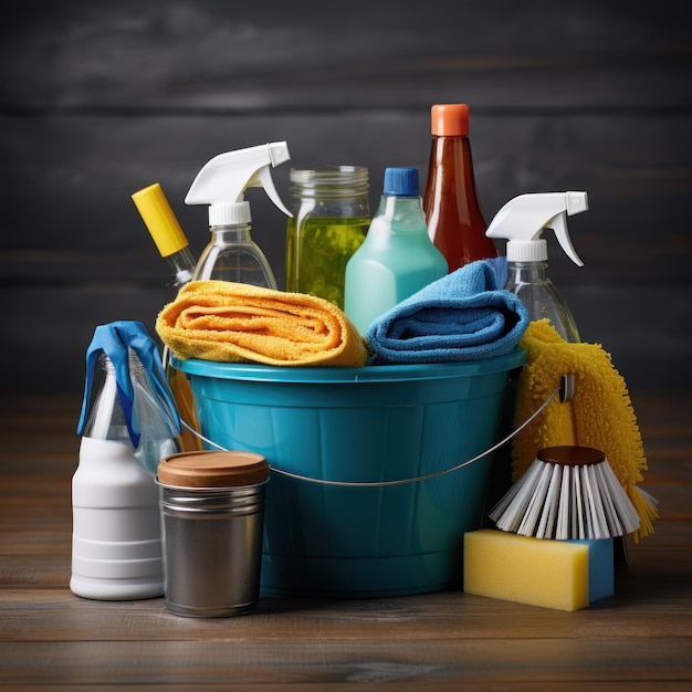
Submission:
[[[497,256],[497,249],[485,235],[487,224],[475,190],[469,106],[433,105],[431,133],[423,211],[428,233],[453,272],[475,260]]]

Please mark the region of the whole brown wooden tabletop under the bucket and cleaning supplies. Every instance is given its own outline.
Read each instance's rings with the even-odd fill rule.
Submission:
[[[692,690],[692,403],[632,392],[659,500],[616,594],[564,612],[459,591],[262,596],[239,618],[69,588],[75,398],[0,398],[0,685],[22,690]]]

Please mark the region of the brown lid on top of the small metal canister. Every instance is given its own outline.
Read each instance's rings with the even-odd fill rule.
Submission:
[[[269,464],[254,452],[182,452],[161,459],[158,482],[174,487],[237,487],[269,479]]]

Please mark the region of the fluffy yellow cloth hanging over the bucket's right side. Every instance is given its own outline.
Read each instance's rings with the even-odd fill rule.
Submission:
[[[656,501],[637,487],[647,470],[641,433],[627,385],[610,354],[599,344],[565,342],[547,319],[530,323],[521,346],[526,349],[526,363],[518,376],[515,426],[531,417],[567,373],[575,375],[575,394],[565,402],[554,398],[514,437],[514,480],[546,447],[579,444],[599,449],[641,518],[635,539],[653,533]]]

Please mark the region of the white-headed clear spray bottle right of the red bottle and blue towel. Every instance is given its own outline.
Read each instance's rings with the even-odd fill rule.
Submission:
[[[542,192],[520,195],[495,214],[485,234],[507,240],[508,276],[505,289],[526,305],[531,319],[547,317],[567,342],[579,342],[579,332],[565,301],[548,279],[547,242],[539,238],[553,229],[567,256],[578,266],[584,262],[576,253],[567,232],[567,217],[588,209],[586,192]]]

